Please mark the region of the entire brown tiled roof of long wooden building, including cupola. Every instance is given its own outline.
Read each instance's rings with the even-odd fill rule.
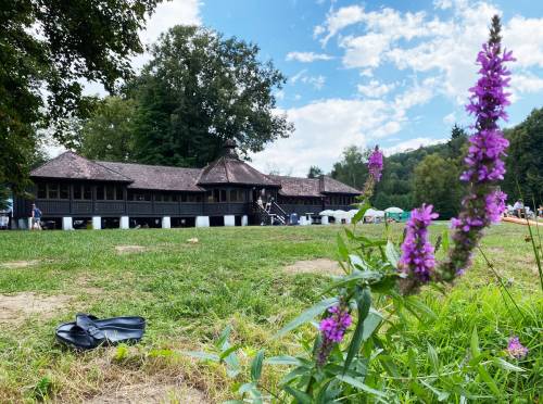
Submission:
[[[94,181],[129,182],[131,189],[202,192],[205,186],[242,185],[279,188],[286,197],[324,197],[328,193],[361,192],[333,178],[299,178],[264,175],[241,161],[236,143],[225,143],[224,155],[204,168],[181,168],[136,163],[90,161],[65,152],[30,173],[33,178],[65,178]]]

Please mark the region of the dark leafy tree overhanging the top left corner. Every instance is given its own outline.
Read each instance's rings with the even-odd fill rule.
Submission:
[[[0,182],[20,193],[37,130],[71,144],[66,122],[85,116],[81,81],[114,91],[141,52],[138,31],[160,0],[0,0]]]

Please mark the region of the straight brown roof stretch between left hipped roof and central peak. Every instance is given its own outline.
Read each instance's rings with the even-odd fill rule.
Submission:
[[[112,171],[131,178],[128,188],[164,191],[203,191],[197,185],[200,168],[166,167],[132,163],[97,162]]]

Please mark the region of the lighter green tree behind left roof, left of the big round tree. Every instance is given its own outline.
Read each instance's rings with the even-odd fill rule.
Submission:
[[[125,162],[132,160],[136,103],[108,97],[79,129],[78,152],[88,159]]]

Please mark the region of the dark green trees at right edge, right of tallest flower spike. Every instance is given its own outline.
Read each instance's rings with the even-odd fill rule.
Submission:
[[[505,131],[510,146],[506,160],[504,189],[509,201],[520,198],[536,204],[543,201],[543,108],[533,110],[519,125]]]

